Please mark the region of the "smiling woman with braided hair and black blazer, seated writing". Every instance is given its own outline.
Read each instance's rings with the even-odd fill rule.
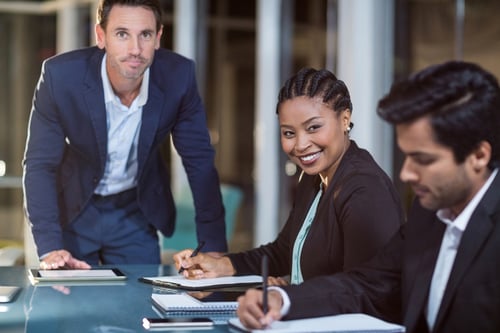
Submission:
[[[216,259],[181,251],[174,259],[184,275],[260,274],[266,255],[270,284],[298,284],[348,270],[385,245],[403,222],[399,197],[350,140],[351,112],[347,87],[333,73],[309,68],[292,76],[277,105],[282,148],[303,170],[288,221],[275,241],[246,252]]]

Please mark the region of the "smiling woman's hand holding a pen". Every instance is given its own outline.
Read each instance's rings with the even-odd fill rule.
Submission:
[[[182,274],[188,279],[214,278],[232,276],[235,271],[231,260],[221,253],[198,253],[192,257],[193,250],[182,250],[174,254],[175,267],[184,268]]]

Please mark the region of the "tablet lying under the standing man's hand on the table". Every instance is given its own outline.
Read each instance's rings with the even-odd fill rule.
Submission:
[[[121,281],[127,277],[118,268],[28,270],[33,282]]]

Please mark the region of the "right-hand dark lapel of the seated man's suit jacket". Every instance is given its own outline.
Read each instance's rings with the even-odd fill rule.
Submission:
[[[497,175],[490,188],[486,192],[479,205],[474,210],[467,228],[465,229],[460,246],[455,257],[455,262],[448,279],[448,284],[441,301],[438,316],[434,327],[438,330],[449,308],[453,296],[460,285],[464,274],[481,251],[483,244],[493,230],[490,216],[499,205],[500,199],[500,177]]]

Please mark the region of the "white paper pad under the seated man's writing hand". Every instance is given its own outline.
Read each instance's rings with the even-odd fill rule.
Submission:
[[[273,332],[365,332],[365,333],[400,333],[405,332],[404,326],[389,323],[381,319],[362,314],[351,313],[318,318],[275,321],[265,330],[251,330],[244,327],[238,318],[229,319],[229,327],[242,332],[273,333]]]

